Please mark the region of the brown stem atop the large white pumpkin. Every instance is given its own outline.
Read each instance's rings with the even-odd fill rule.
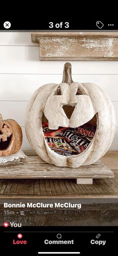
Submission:
[[[71,78],[71,64],[69,62],[64,64],[62,83],[67,83],[69,85],[73,83]]]

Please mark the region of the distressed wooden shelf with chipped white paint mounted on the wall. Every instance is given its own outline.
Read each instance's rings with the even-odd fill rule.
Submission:
[[[34,32],[40,60],[118,60],[118,33],[115,32]]]

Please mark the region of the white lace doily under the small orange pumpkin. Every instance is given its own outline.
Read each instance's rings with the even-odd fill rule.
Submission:
[[[20,159],[26,159],[26,155],[23,153],[23,151],[20,149],[17,153],[11,154],[9,156],[0,156],[0,164],[12,164],[18,163]]]

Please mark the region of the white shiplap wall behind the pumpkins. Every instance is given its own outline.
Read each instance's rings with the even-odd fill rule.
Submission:
[[[38,44],[30,33],[0,33],[0,113],[15,119],[22,128],[22,149],[30,150],[24,114],[33,92],[46,83],[60,83],[65,61],[39,61]],[[110,97],[116,112],[116,131],[111,150],[118,150],[118,62],[71,61],[72,78],[98,84]]]

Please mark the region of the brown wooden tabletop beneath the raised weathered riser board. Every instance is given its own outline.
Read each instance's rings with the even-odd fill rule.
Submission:
[[[118,173],[114,176],[91,185],[77,185],[74,179],[1,179],[0,198],[118,198]]]

